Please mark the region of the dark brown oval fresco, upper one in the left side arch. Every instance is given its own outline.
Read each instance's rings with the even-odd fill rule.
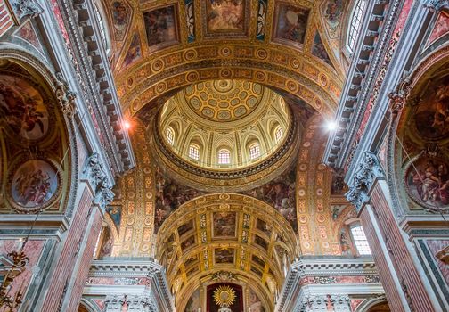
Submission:
[[[38,140],[48,131],[41,94],[21,78],[0,75],[0,116],[14,133],[28,140]]]

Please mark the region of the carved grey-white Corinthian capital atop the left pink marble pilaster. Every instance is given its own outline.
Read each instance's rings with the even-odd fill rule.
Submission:
[[[98,152],[94,152],[86,160],[83,175],[94,189],[94,203],[99,205],[101,209],[105,209],[106,205],[114,199],[114,193],[111,191],[112,185],[108,181]]]

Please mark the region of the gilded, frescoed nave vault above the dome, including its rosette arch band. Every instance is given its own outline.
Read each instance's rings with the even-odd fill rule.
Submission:
[[[336,44],[344,1],[104,3],[114,35],[110,62],[128,115],[180,87],[230,78],[294,94],[323,114],[335,111],[345,67]]]

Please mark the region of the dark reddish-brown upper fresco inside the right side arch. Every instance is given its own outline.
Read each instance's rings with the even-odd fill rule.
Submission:
[[[449,77],[436,81],[424,94],[414,115],[421,137],[439,140],[449,135]]]

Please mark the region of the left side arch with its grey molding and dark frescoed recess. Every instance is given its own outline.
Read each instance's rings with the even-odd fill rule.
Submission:
[[[36,57],[15,48],[0,50],[0,76],[7,81],[3,83],[4,93],[19,92],[20,98],[27,97],[27,103],[33,107],[33,110],[28,109],[28,112],[20,112],[17,111],[20,110],[20,105],[10,101],[4,102],[1,107],[4,123],[0,122],[0,157],[7,166],[1,168],[0,188],[6,186],[9,189],[6,192],[8,195],[4,212],[16,210],[32,213],[44,209],[65,212],[71,216],[78,187],[78,152],[73,135],[73,120],[71,115],[62,111],[56,96],[57,92],[66,92],[67,87],[61,88],[61,79],[53,76]],[[14,99],[14,102],[20,101],[15,97]],[[27,119],[17,119],[18,113],[29,115]],[[16,119],[12,119],[12,116],[16,116]],[[19,124],[16,122],[18,120],[27,120],[27,124]],[[7,144],[21,146],[21,152],[10,154],[11,149],[8,149],[8,152],[5,148]],[[52,144],[58,151],[48,149]],[[31,155],[23,152],[23,148],[29,149],[29,146],[32,146],[30,151],[35,151],[31,152]],[[66,152],[68,157],[61,157]],[[21,170],[26,168],[27,164],[37,166],[34,168],[39,171],[34,174],[40,175],[44,180],[48,177],[46,180],[49,181],[45,191],[42,191],[44,193],[41,193],[45,197],[41,196],[38,200],[35,196],[34,201],[42,204],[35,202],[32,208],[17,204],[17,199],[14,199],[12,194],[13,181],[18,181],[16,173],[32,174],[33,171],[28,169]]]

